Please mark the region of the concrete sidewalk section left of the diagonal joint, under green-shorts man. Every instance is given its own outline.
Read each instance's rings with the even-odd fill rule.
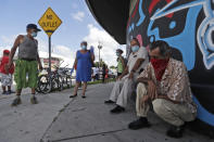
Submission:
[[[0,142],[39,142],[60,111],[71,101],[71,91],[39,94],[39,104],[32,105],[30,90],[25,89],[22,104],[17,107],[10,106],[15,94],[0,95]]]

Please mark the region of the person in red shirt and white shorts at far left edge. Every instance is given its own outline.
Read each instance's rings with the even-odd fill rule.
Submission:
[[[11,85],[13,82],[12,76],[14,73],[14,64],[12,64],[11,68],[8,70],[5,69],[5,65],[9,63],[9,50],[3,51],[3,56],[1,57],[1,64],[0,64],[0,74],[1,74],[1,86],[2,86],[2,94],[11,94],[14,93],[11,91]],[[8,91],[7,91],[8,87]]]

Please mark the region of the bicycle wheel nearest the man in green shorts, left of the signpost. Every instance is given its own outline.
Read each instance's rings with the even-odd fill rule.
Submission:
[[[38,79],[38,88],[42,93],[49,93],[51,92],[51,87],[49,82],[49,76],[48,75],[41,75]]]

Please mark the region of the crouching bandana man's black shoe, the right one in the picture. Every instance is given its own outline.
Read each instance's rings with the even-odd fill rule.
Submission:
[[[182,126],[180,127],[176,127],[176,126],[172,126],[167,131],[166,131],[166,135],[171,137],[171,138],[181,138],[182,137],[182,131],[184,128]]]

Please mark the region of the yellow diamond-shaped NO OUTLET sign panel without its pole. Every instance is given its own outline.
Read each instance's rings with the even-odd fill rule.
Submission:
[[[51,8],[48,8],[38,23],[45,33],[51,37],[55,29],[62,24],[62,21]]]

